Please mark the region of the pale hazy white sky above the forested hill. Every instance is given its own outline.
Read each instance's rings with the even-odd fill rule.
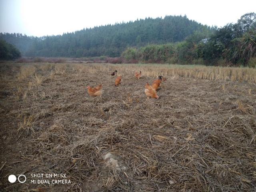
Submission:
[[[209,26],[256,12],[256,0],[0,0],[0,32],[57,35],[137,18],[185,15]]]

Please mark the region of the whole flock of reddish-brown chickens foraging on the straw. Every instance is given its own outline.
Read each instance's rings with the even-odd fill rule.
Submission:
[[[111,75],[115,76],[117,74],[117,70],[115,70]],[[140,79],[142,77],[142,73],[140,72],[135,72],[134,75],[137,79]],[[119,86],[121,84],[122,81],[122,76],[118,76],[115,80],[115,86]],[[158,78],[156,80],[154,80],[153,84],[150,85],[148,84],[148,82],[145,85],[145,94],[146,96],[151,97],[151,98],[155,98],[158,99],[159,96],[157,95],[156,91],[159,90],[160,85],[163,81],[166,81],[166,78],[164,78],[163,76],[158,76]],[[101,96],[102,95],[102,84],[92,88],[90,86],[87,87],[88,89],[88,94],[90,96]]]

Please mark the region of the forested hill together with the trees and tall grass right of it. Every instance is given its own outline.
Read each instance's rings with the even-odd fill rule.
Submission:
[[[223,28],[202,25],[186,16],[166,16],[58,36],[0,33],[0,38],[16,45],[28,57],[256,67],[255,13],[245,14],[235,24]]]

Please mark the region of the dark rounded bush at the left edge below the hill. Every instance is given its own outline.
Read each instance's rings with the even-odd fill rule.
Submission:
[[[20,56],[20,51],[15,46],[0,39],[0,60],[13,60]]]

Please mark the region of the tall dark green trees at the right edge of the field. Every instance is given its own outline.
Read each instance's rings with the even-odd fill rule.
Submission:
[[[227,24],[219,28],[205,42],[197,44],[196,53],[206,64],[247,65],[251,57],[255,57],[256,14],[248,13],[236,24]]]

